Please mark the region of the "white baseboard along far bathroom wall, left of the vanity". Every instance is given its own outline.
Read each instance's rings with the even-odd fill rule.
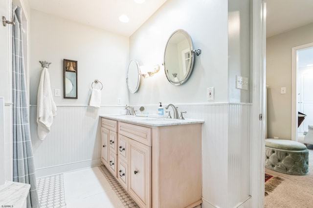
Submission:
[[[48,175],[55,175],[55,174],[73,171],[73,170],[100,166],[100,165],[101,165],[101,160],[100,158],[97,158],[97,159],[79,161],[75,163],[36,169],[36,178],[45,177]]]

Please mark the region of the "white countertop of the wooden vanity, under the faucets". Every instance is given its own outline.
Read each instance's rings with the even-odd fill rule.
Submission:
[[[173,126],[184,124],[204,123],[204,120],[198,119],[173,119],[173,118],[152,118],[134,115],[100,115],[100,117],[108,118],[116,121],[125,121],[148,126]]]

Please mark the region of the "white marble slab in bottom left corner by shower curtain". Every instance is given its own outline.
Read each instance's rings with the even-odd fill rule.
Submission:
[[[30,189],[29,184],[7,181],[0,185],[0,207],[22,208]]]

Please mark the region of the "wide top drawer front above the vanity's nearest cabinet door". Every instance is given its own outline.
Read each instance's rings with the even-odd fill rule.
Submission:
[[[128,123],[118,123],[118,132],[151,147],[151,129]]]

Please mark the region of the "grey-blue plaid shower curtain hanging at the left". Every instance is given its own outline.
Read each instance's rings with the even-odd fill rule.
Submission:
[[[13,51],[13,181],[30,184],[27,208],[40,208],[36,189],[33,150],[30,139],[28,101],[22,42],[22,8],[12,5]]]

